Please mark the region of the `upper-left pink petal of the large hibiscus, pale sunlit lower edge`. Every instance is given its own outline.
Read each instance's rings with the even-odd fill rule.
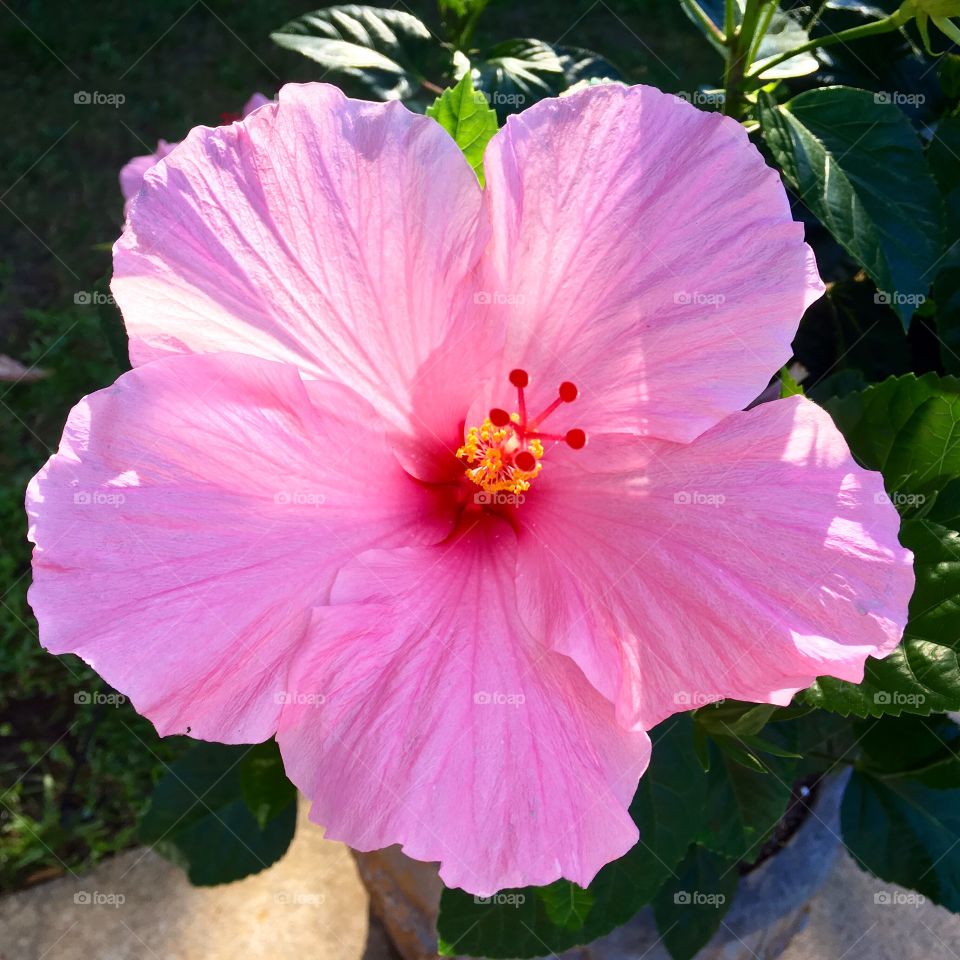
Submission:
[[[482,222],[477,179],[435,121],[285,86],[242,122],[197,127],[146,176],[114,248],[131,358],[281,360],[405,425],[433,352],[476,335],[464,283]]]

